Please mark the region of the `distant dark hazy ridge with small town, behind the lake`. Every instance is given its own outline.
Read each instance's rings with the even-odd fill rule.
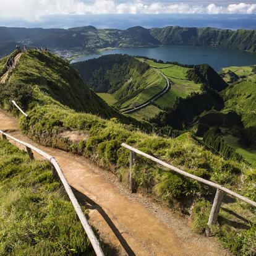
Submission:
[[[83,49],[95,51],[108,47],[139,47],[158,45],[202,45],[213,42],[224,48],[256,51],[254,30],[221,30],[218,28],[164,27],[127,30],[97,29],[92,26],[69,29],[0,27],[0,56],[11,51],[17,41],[30,46],[54,49]]]

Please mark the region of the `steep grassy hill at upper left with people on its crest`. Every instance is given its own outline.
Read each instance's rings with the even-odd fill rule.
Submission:
[[[5,61],[3,59],[0,64]],[[25,109],[30,104],[61,104],[75,111],[97,114],[103,118],[117,117],[123,122],[131,122],[129,117],[108,106],[88,88],[67,61],[48,52],[29,50],[23,53],[19,69],[12,71],[9,82],[0,87],[0,92],[2,101],[11,95]],[[136,123],[135,120],[132,122]]]

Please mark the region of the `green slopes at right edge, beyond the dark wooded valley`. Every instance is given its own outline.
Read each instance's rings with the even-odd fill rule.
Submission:
[[[232,74],[232,77],[230,76]],[[255,166],[256,163],[256,74],[255,66],[227,67],[221,76],[229,82],[229,87],[223,92],[225,110],[234,109],[239,116],[244,129],[233,134],[224,134],[226,142],[234,147],[237,153]]]

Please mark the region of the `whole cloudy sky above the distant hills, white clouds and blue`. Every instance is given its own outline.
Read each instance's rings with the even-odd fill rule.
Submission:
[[[0,0],[0,26],[127,28],[134,25],[256,29],[251,0]]]

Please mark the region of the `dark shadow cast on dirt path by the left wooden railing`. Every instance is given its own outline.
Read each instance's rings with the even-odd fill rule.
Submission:
[[[106,214],[106,212],[103,210],[103,208],[101,208],[100,205],[95,203],[91,198],[89,198],[86,195],[79,192],[79,190],[75,189],[74,187],[72,187],[72,190],[73,190],[75,196],[77,197],[77,200],[79,200],[79,203],[81,203],[81,205],[85,205],[88,209],[97,210],[100,213],[100,215],[103,216],[104,220],[106,221],[106,223],[108,223],[109,227],[111,228],[113,233],[116,235],[117,239],[121,243],[124,250],[126,250],[127,254],[129,256],[135,256],[134,251],[130,248],[129,244],[126,242],[126,240],[124,239],[122,234],[116,228],[113,221],[111,221],[111,219]],[[111,250],[114,250],[114,249],[111,248]],[[114,251],[114,252],[111,251],[111,255],[118,255],[118,254],[116,251]]]

